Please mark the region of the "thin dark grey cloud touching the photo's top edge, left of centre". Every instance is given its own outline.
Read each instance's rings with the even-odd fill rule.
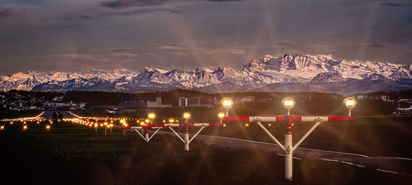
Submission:
[[[126,8],[133,6],[152,6],[161,5],[168,0],[116,0],[116,1],[106,1],[100,4],[106,8]]]

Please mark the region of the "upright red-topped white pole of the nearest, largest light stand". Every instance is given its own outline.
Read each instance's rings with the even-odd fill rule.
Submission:
[[[286,117],[286,134],[285,134],[285,178],[286,180],[292,180],[293,171],[293,142],[292,142],[292,116]]]

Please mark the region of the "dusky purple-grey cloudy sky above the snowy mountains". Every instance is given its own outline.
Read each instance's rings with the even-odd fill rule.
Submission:
[[[285,53],[412,62],[412,0],[0,0],[0,75]]]

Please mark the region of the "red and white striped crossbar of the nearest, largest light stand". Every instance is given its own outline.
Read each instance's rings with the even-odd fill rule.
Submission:
[[[248,121],[248,122],[276,122],[285,121],[284,116],[238,116],[224,117],[223,121]],[[313,121],[354,121],[354,117],[348,116],[292,116],[292,121],[313,122]]]

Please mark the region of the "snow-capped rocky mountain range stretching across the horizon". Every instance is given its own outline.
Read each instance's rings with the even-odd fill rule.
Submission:
[[[209,93],[234,91],[319,91],[367,93],[412,88],[412,64],[335,60],[325,55],[264,56],[242,69],[229,67],[144,67],[137,71],[15,73],[0,76],[0,90],[100,90],[141,93],[175,88]]]

